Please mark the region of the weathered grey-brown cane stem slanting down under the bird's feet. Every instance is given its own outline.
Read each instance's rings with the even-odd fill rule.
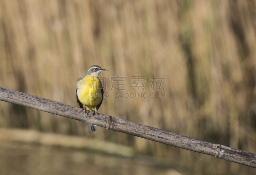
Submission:
[[[224,160],[256,168],[256,154],[239,149],[234,149],[207,141],[201,141],[99,113],[92,118],[92,112],[87,115],[82,112],[80,108],[75,106],[2,87],[0,87],[0,100],[42,110],[63,117],[73,118],[86,123],[92,123],[113,131],[131,134],[151,141],[208,154]]]

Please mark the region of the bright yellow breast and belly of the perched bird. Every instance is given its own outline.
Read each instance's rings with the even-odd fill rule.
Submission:
[[[100,80],[96,77],[84,77],[77,82],[77,97],[81,103],[93,110],[101,102]]]

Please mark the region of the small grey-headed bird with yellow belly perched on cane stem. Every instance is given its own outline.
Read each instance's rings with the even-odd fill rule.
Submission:
[[[96,110],[100,108],[103,100],[103,87],[99,79],[100,72],[108,71],[102,69],[98,65],[92,65],[87,70],[84,77],[78,78],[76,84],[76,101],[80,108],[83,108],[85,113],[93,111],[92,116],[95,115]],[[83,106],[84,105],[84,106]],[[86,110],[85,106],[88,110]],[[97,125],[90,124],[91,131],[99,131]]]

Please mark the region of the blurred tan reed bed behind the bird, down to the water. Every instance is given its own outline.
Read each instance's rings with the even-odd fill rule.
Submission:
[[[120,93],[110,90],[110,77],[119,75],[126,76],[123,93],[166,98],[106,98],[99,113],[256,153],[255,31],[255,1],[1,0],[0,86],[78,107],[76,79],[100,65],[109,70],[101,73],[105,93]],[[145,91],[131,90],[134,75],[146,76]],[[150,88],[153,75],[165,75],[164,91]],[[212,156],[104,128],[91,133],[86,123],[0,105],[4,128],[106,137],[192,168],[189,174],[255,173]]]

